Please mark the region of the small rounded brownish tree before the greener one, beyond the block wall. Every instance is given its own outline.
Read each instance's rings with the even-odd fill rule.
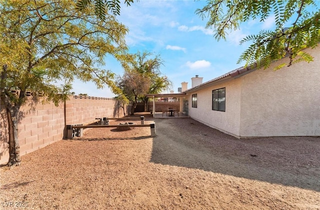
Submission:
[[[133,101],[130,115],[134,115],[134,109],[138,103],[138,97],[147,93],[151,80],[147,75],[141,74],[135,69],[127,70],[118,80],[118,87],[123,94]]]

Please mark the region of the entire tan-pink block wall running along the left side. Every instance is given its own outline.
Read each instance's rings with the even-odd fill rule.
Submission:
[[[125,107],[126,108],[126,107]],[[125,109],[127,111],[127,109]],[[30,104],[21,107],[21,121],[18,125],[20,154],[24,155],[45,147],[63,138],[66,125],[82,124],[101,117],[123,117],[116,99],[70,96],[65,104],[58,107],[53,103]],[[65,123],[64,123],[65,121]],[[4,106],[0,106],[0,164],[8,161],[7,120]]]

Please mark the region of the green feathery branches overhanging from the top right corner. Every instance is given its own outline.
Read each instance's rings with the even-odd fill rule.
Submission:
[[[289,63],[282,63],[276,69],[295,62],[310,62],[312,56],[301,50],[314,48],[320,41],[317,0],[207,0],[196,13],[209,18],[206,28],[214,30],[217,40],[225,39],[227,32],[238,29],[242,22],[256,18],[265,21],[274,14],[276,28],[273,31],[261,30],[241,40],[240,43],[252,41],[237,61],[245,61],[245,65],[256,63],[258,67],[268,67],[273,60],[286,55]]]

